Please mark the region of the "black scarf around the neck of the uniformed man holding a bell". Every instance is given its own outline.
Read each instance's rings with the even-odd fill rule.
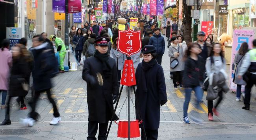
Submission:
[[[107,53],[100,53],[98,50],[95,51],[94,57],[96,57],[97,59],[99,59],[102,63],[102,72],[104,74],[105,77],[108,77],[111,75],[111,66],[109,65],[109,61],[108,61],[108,52]]]

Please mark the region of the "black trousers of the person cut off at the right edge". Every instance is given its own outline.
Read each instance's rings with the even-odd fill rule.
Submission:
[[[247,106],[250,105],[250,92],[252,90],[252,86],[256,85],[256,75],[250,74],[249,81],[247,81],[247,85],[245,86],[245,99],[243,100],[243,103]]]

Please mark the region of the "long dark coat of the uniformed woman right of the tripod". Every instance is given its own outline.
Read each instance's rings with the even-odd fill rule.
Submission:
[[[140,108],[145,128],[155,130],[159,128],[160,124],[160,101],[167,100],[165,77],[160,64],[155,64],[145,72],[146,80],[142,78],[143,73],[142,63],[139,63],[135,73],[137,83],[136,100],[138,100],[138,102],[135,101],[135,105]],[[147,89],[143,89],[142,83],[145,82]],[[139,103],[139,106],[136,103]],[[137,114],[136,118],[139,119]]]

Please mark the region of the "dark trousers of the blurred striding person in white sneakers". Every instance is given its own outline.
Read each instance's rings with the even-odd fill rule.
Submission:
[[[46,91],[46,93],[47,93],[47,97],[48,97],[48,99],[49,99],[49,101],[50,101],[50,103],[52,103],[52,107],[53,107],[53,116],[54,117],[59,117],[60,115],[59,115],[59,112],[58,112],[58,109],[57,109],[57,106],[56,106],[56,103],[55,103],[55,101],[52,99],[52,97],[51,97],[51,92],[50,92],[50,89],[46,89],[46,90],[41,90],[41,91],[36,91],[35,92],[35,95],[34,95],[34,98],[33,98],[33,101],[32,102],[30,102],[30,106],[31,106],[31,112],[29,113],[29,117],[30,118],[33,118],[34,120],[37,120],[38,119],[38,113],[37,112],[35,112],[35,107],[36,107],[36,104],[37,104],[37,100],[38,100],[38,98],[39,98],[39,96],[40,96],[40,94],[42,93],[42,92],[45,92]]]

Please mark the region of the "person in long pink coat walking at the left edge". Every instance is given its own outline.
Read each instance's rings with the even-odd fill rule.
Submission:
[[[10,69],[12,66],[12,54],[9,51],[10,41],[9,39],[4,39],[1,43],[1,50],[0,50],[0,92],[2,92],[2,103],[1,109],[6,108],[6,96],[7,90],[9,87],[9,76],[10,76]]]

